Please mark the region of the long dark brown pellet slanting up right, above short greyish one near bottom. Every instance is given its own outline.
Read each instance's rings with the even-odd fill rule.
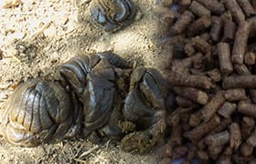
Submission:
[[[218,116],[212,117],[208,122],[202,122],[196,128],[184,133],[186,138],[192,141],[198,141],[200,138],[206,136],[212,129],[216,128],[220,123]]]

